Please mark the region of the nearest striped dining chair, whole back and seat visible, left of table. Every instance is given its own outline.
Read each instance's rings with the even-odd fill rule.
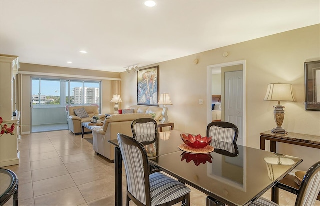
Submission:
[[[118,133],[117,139],[127,180],[126,205],[174,205],[185,201],[190,205],[190,188],[171,177],[155,172],[149,174],[148,158],[136,139]]]

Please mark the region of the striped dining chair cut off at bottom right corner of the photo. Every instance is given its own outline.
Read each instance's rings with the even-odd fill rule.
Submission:
[[[304,175],[301,186],[299,188],[295,206],[314,205],[315,200],[320,192],[320,161],[313,164]],[[251,205],[266,206],[278,205],[268,199],[260,197],[252,202]]]

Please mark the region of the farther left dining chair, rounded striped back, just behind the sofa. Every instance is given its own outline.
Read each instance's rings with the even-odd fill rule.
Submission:
[[[133,138],[135,138],[135,136],[140,136],[140,137],[144,136],[146,138],[149,138],[150,136],[146,134],[156,134],[158,132],[158,125],[156,121],[152,118],[138,118],[132,121],[131,129],[132,129]],[[141,138],[139,139],[139,142],[147,142],[147,141],[150,141],[150,139],[141,139]],[[150,169],[150,173],[160,171],[154,165],[150,165],[149,169]]]

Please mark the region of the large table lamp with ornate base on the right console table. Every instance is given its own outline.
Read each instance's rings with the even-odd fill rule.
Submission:
[[[288,83],[269,83],[263,100],[278,101],[278,104],[273,106],[274,120],[276,127],[271,130],[272,133],[287,134],[283,129],[282,123],[284,120],[284,106],[280,105],[280,101],[295,101],[292,93],[292,84]]]

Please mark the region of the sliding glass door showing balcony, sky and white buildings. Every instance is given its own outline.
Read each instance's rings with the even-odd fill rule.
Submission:
[[[66,107],[96,104],[101,82],[32,77],[31,132],[68,129]]]

